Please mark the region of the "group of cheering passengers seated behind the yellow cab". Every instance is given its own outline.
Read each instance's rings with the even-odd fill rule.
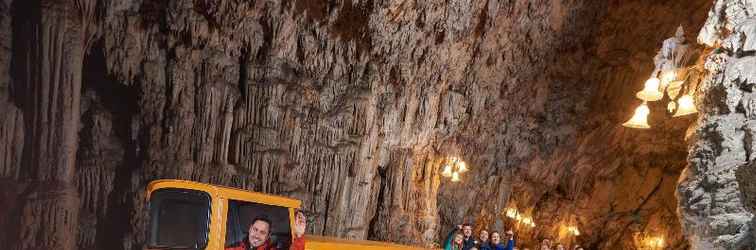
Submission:
[[[550,239],[543,239],[537,250],[568,250],[563,244],[552,244]],[[444,242],[444,250],[519,250],[515,244],[514,232],[510,229],[501,235],[497,231],[490,232],[480,230],[478,238],[473,236],[473,228],[470,224],[457,225],[449,232]],[[523,247],[522,250],[530,250]],[[570,250],[583,250],[575,245]]]

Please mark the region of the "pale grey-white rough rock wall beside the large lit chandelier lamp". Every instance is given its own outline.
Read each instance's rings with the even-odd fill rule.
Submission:
[[[753,182],[756,3],[715,1],[698,40],[712,48],[678,190],[692,249],[755,249]]]

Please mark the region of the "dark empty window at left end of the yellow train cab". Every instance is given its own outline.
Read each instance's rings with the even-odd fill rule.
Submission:
[[[204,249],[208,241],[210,196],[178,188],[152,193],[147,245],[159,249]]]

